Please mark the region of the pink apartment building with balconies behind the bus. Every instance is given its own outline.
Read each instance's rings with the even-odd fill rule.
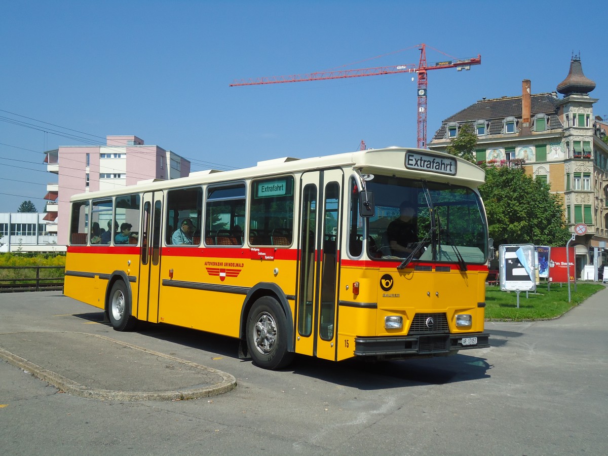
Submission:
[[[190,162],[137,136],[108,136],[106,145],[61,146],[47,151],[47,171],[58,182],[47,185],[47,229],[57,232],[57,244],[67,244],[69,201],[77,193],[112,190],[150,179],[176,179],[190,174]]]

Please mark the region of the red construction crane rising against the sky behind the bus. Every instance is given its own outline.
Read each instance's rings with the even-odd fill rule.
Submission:
[[[426,95],[429,82],[426,72],[443,68],[455,68],[457,71],[471,69],[471,65],[482,63],[482,56],[477,55],[473,58],[451,58],[427,65],[426,63],[426,44],[419,44],[420,63],[405,64],[397,66],[381,66],[375,68],[361,68],[354,70],[341,71],[319,71],[315,73],[294,74],[290,76],[271,76],[255,79],[235,80],[230,87],[235,86],[254,86],[262,84],[281,84],[286,82],[319,81],[323,79],[357,78],[362,76],[376,76],[381,74],[397,73],[416,73],[418,75],[418,148],[426,147]],[[429,46],[430,47],[430,46]],[[434,49],[434,48],[431,48]],[[437,49],[435,49],[437,50]],[[441,52],[441,51],[438,51]],[[441,52],[441,54],[444,54]]]

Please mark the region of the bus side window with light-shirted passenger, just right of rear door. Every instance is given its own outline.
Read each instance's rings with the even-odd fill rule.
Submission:
[[[172,246],[201,244],[202,188],[177,188],[167,192],[165,243]]]

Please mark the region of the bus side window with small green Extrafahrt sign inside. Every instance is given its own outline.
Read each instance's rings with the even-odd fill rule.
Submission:
[[[294,178],[252,182],[249,244],[290,246],[294,232]]]

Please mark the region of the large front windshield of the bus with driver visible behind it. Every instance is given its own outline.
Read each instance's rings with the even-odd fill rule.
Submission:
[[[461,269],[488,258],[482,203],[471,188],[375,176],[367,190],[375,202],[375,215],[365,219],[371,258],[446,261]]]

